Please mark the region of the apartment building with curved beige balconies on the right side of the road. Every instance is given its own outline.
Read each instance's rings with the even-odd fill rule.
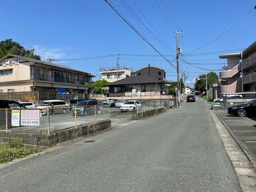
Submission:
[[[241,53],[225,54],[220,58],[227,59],[227,70],[220,72],[219,95],[256,91],[256,42]]]

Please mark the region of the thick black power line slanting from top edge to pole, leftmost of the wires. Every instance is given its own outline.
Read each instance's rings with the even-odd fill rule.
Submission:
[[[164,60],[166,60],[166,62],[168,62],[172,67],[176,68],[176,66],[174,66],[169,60],[167,60],[164,55],[162,55],[159,50],[157,50],[157,48],[155,48],[155,46],[153,44],[151,44],[151,42],[149,42],[149,40],[147,40],[147,38],[145,38],[145,36],[143,36],[143,34],[141,34],[141,32],[139,32],[139,30],[137,30],[137,28],[135,28],[135,26],[133,26],[133,24],[131,24],[129,21],[127,21],[127,19],[125,19],[125,17],[123,17],[123,15],[121,15],[121,13],[119,13],[119,11],[114,7],[114,5],[112,5],[110,3],[109,0],[103,0],[105,1],[105,3],[107,3],[107,5],[109,5],[109,7],[111,9],[113,9],[113,11],[115,11],[115,13],[117,13],[117,15],[119,17],[121,17],[121,19],[123,19],[123,21],[125,21],[126,24],[128,24],[145,42],[147,42],[147,44],[149,44],[149,46],[151,46],[151,48],[153,48],[153,50],[155,50],[155,52],[157,52],[160,56],[162,56],[162,58],[164,58]]]

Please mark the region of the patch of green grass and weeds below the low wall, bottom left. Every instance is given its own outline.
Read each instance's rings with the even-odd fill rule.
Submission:
[[[40,151],[42,151],[40,148],[25,146],[21,139],[10,138],[7,144],[0,144],[0,164],[24,158],[29,154],[34,154]]]

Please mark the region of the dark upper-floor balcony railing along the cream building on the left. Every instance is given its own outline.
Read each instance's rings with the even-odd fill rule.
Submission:
[[[31,79],[39,80],[39,81],[53,81],[58,83],[72,83],[76,85],[88,85],[88,82],[84,80],[72,79],[67,77],[54,77],[52,75],[44,75],[44,74],[31,74]]]

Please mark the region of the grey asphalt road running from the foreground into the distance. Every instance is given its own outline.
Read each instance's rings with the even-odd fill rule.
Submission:
[[[84,141],[95,139],[86,144]],[[205,101],[0,169],[0,191],[241,191]]]

